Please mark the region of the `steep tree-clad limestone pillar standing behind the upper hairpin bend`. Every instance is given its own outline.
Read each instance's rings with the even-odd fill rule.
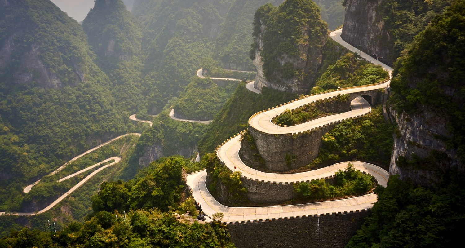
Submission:
[[[315,3],[286,0],[278,8],[260,7],[253,35],[256,88],[303,94],[312,87],[327,38],[327,25]]]

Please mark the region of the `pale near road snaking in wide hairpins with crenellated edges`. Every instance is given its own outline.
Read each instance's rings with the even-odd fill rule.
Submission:
[[[351,46],[350,44],[346,43],[340,38],[341,33],[342,29],[336,30],[330,34],[330,37],[333,40],[337,41],[339,44],[355,52],[357,50],[355,47]],[[365,53],[360,52],[360,55],[366,60],[381,65],[386,71],[389,72],[389,75],[391,77],[391,67],[388,67],[385,64],[379,62],[378,60],[373,59]],[[268,109],[266,111],[262,111],[252,115],[252,117],[249,119],[249,125],[250,127],[255,128],[260,132],[266,134],[298,134],[306,130],[312,130],[313,128],[321,127],[326,124],[343,121],[348,118],[356,118],[360,115],[368,114],[371,112],[371,107],[369,103],[362,97],[357,97],[351,102],[352,110],[349,112],[326,116],[316,120],[301,123],[292,127],[279,127],[272,123],[272,118],[283,113],[286,109],[294,109],[297,107],[301,107],[314,101],[335,97],[338,94],[353,94],[363,92],[366,90],[389,87],[389,83],[390,80],[379,85],[347,88],[325,94],[318,94],[314,96],[300,98],[296,101],[288,102],[283,106]],[[224,144],[221,145],[221,147],[219,147],[219,149],[217,149],[217,156],[219,160],[226,165],[227,168],[229,168],[231,171],[241,172],[242,177],[246,179],[278,184],[311,181],[315,179],[325,178],[327,176],[332,176],[338,169],[344,169],[349,162],[351,162],[356,169],[371,174],[379,185],[386,186],[387,180],[389,178],[389,173],[384,169],[379,168],[376,165],[361,161],[347,161],[333,164],[325,168],[296,174],[261,172],[246,166],[244,162],[242,162],[239,158],[241,136],[242,135],[235,135],[232,139],[228,139],[228,141],[226,141]],[[345,211],[358,211],[367,208],[372,208],[372,204],[377,201],[376,195],[370,193],[357,197],[351,197],[334,201],[323,201],[285,206],[234,208],[224,206],[220,204],[218,201],[216,201],[216,199],[214,199],[208,191],[205,182],[205,170],[187,176],[187,185],[189,186],[189,188],[191,188],[194,199],[202,204],[203,211],[208,216],[213,216],[213,214],[215,213],[223,213],[223,221],[226,223],[235,221],[259,221],[272,218],[292,218],[295,216],[338,213]]]

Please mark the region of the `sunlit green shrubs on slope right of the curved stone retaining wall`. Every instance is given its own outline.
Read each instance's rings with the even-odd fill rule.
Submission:
[[[396,127],[384,120],[382,111],[382,106],[374,107],[372,113],[345,120],[323,135],[319,155],[310,166],[357,159],[388,168]]]

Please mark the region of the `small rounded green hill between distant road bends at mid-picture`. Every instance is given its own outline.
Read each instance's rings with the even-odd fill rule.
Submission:
[[[194,77],[173,105],[176,114],[188,120],[213,120],[227,99],[225,90],[210,78]]]

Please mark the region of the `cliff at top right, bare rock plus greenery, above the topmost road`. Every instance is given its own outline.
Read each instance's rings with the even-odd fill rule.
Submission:
[[[449,0],[345,0],[341,37],[392,65],[413,37],[449,4]]]

